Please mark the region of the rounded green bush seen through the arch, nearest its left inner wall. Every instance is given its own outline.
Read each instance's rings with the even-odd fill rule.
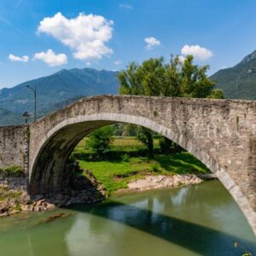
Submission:
[[[110,149],[113,127],[108,125],[92,131],[87,141],[88,147],[93,153],[103,156]]]

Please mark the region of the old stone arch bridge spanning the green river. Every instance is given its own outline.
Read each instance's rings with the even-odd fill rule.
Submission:
[[[0,127],[0,168],[22,166],[31,194],[56,191],[76,144],[117,122],[143,125],[194,154],[230,191],[256,234],[256,102],[87,97],[31,125]]]

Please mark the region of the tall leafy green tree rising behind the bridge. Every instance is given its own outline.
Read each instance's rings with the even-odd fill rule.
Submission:
[[[121,95],[177,96],[195,98],[224,98],[221,90],[214,90],[215,83],[207,77],[209,66],[193,63],[188,55],[183,61],[171,56],[166,63],[163,56],[150,58],[141,65],[131,62],[118,75]],[[153,135],[146,128],[138,128],[138,138],[147,145],[148,154],[154,156]],[[167,143],[167,141],[166,141]]]

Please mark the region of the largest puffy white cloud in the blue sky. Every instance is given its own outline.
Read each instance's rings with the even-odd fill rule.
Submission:
[[[102,59],[111,55],[113,49],[106,46],[112,38],[113,21],[100,15],[80,13],[74,19],[67,19],[61,13],[44,18],[38,26],[39,33],[47,33],[73,50],[73,57],[79,60]]]

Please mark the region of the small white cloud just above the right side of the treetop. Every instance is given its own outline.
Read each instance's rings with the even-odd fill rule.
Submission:
[[[212,51],[201,47],[200,45],[184,45],[181,49],[183,55],[194,55],[200,61],[207,60],[212,57]]]

